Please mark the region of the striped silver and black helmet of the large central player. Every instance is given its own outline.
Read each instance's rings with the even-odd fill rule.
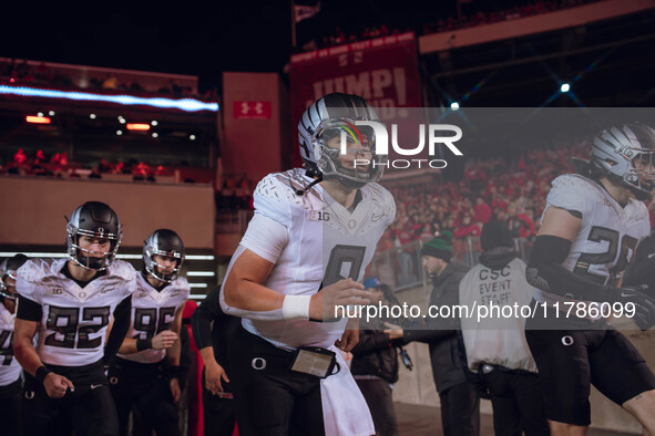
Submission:
[[[379,122],[368,102],[357,95],[328,94],[305,111],[298,137],[308,176],[336,179],[352,188],[380,179],[387,156],[376,154],[373,128],[358,126],[358,121]]]

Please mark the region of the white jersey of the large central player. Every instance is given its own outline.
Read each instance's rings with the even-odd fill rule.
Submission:
[[[378,240],[396,216],[393,197],[378,184],[364,186],[361,200],[348,211],[320,185],[303,196],[295,193],[311,181],[305,169],[290,169],[266,176],[253,195],[255,212],[279,222],[288,232],[287,245],[263,283],[287,295],[313,295],[349,277],[361,280]],[[247,238],[240,245],[250,248]],[[347,321],[244,318],[243,325],[276,346],[329,347],[341,336]]]

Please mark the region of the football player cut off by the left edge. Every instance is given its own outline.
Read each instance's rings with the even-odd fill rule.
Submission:
[[[18,436],[22,381],[20,364],[13,359],[16,319],[16,270],[28,257],[16,255],[0,263],[0,422],[2,434]]]

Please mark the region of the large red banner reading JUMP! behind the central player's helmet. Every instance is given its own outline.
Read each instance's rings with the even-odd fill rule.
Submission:
[[[408,32],[295,54],[290,85],[294,131],[311,102],[331,92],[360,95],[377,108],[420,107],[416,37]],[[299,163],[296,153],[294,165]]]

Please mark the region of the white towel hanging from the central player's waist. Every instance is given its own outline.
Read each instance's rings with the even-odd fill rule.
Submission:
[[[326,436],[370,436],[376,434],[373,419],[359,386],[352,378],[341,352],[337,353],[340,370],[320,381],[323,421]]]

